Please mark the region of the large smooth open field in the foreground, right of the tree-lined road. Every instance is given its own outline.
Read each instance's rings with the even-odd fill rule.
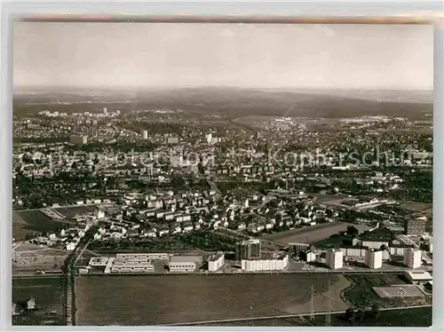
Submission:
[[[81,276],[76,325],[155,325],[347,309],[349,282],[332,274]]]

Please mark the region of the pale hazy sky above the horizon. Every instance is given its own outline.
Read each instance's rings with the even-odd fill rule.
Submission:
[[[13,85],[432,90],[433,28],[17,22]]]

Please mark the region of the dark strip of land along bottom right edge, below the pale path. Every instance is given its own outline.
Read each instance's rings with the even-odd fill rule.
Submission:
[[[239,320],[229,323],[203,324],[202,326],[219,327],[294,327],[294,326],[325,326],[326,315],[315,316],[310,320],[304,318],[276,318],[272,320]],[[432,326],[432,306],[425,308],[412,308],[400,310],[388,310],[379,312],[377,318],[368,318],[361,322],[351,323],[345,319],[345,314],[334,314],[331,316],[333,327],[430,327]]]

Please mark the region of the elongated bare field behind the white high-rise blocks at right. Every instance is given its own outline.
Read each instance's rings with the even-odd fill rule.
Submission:
[[[345,232],[347,226],[350,224],[343,222],[334,222],[329,224],[314,225],[311,227],[297,228],[287,232],[274,233],[266,235],[263,239],[277,241],[282,244],[289,244],[289,242],[309,243],[328,239],[331,235]]]

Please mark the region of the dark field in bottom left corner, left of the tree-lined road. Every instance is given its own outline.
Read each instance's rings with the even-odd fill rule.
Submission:
[[[21,312],[34,297],[36,310]],[[29,277],[12,279],[12,302],[20,314],[12,316],[12,325],[66,325],[63,315],[61,277]]]

